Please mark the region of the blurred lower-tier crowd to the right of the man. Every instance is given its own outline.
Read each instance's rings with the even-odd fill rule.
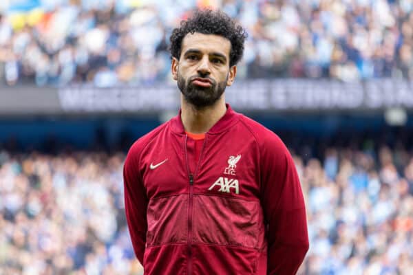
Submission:
[[[412,274],[411,151],[329,148],[295,162],[310,236],[301,274]]]

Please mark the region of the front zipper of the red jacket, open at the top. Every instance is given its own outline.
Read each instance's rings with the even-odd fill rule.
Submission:
[[[192,274],[192,216],[193,216],[193,178],[194,175],[198,173],[198,166],[201,162],[202,153],[204,152],[205,142],[207,141],[207,134],[205,134],[204,143],[202,144],[202,149],[200,152],[200,157],[198,159],[198,163],[195,167],[195,173],[192,174],[191,170],[189,170],[189,162],[188,162],[188,152],[187,152],[187,141],[188,135],[185,135],[185,160],[187,162],[187,170],[189,175],[189,206],[188,206],[188,275]]]

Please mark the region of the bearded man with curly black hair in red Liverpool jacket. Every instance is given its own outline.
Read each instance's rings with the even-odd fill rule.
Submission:
[[[225,104],[245,39],[211,10],[173,30],[180,113],[137,140],[124,167],[127,222],[145,274],[295,274],[308,250],[286,146]]]

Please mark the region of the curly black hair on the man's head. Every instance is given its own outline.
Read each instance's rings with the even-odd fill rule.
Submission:
[[[181,21],[180,27],[173,29],[170,37],[171,45],[169,51],[171,56],[180,58],[182,50],[182,40],[184,37],[194,32],[202,34],[216,34],[223,36],[231,42],[231,52],[229,53],[229,66],[237,64],[244,52],[244,41],[246,31],[242,26],[237,25],[231,17],[220,10],[196,10],[193,16],[187,21]]]

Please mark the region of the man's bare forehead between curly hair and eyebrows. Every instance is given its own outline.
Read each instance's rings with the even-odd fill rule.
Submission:
[[[187,34],[182,41],[182,53],[187,50],[200,50],[204,53],[218,52],[229,57],[231,42],[225,37],[216,34],[201,34],[194,32]]]

